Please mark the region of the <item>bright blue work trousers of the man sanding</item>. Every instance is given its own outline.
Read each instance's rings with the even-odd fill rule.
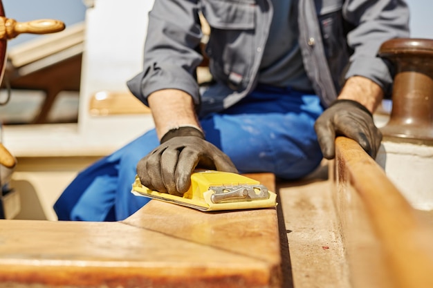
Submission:
[[[201,119],[206,140],[226,153],[240,173],[272,172],[294,180],[322,160],[313,128],[323,112],[311,93],[259,87],[222,113]],[[116,221],[149,199],[131,193],[138,161],[158,146],[153,129],[81,171],[55,203],[59,220]]]

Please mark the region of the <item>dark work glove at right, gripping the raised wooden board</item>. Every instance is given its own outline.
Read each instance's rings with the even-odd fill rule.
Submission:
[[[376,158],[382,133],[374,125],[373,115],[359,102],[340,99],[327,108],[314,124],[317,140],[326,159],[335,157],[335,137],[343,135],[360,144]]]

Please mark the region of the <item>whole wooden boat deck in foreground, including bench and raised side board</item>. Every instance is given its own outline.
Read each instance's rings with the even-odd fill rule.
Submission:
[[[0,220],[0,287],[432,287],[433,213],[352,140],[337,144],[304,180],[261,175],[276,209],[152,200],[122,222]]]

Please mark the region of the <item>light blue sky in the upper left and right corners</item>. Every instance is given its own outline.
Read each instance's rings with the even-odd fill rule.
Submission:
[[[407,3],[411,9],[411,36],[433,39],[433,0],[407,0]],[[66,26],[84,21],[86,10],[82,0],[3,0],[3,7],[6,16],[17,21],[52,18],[64,21]],[[33,37],[20,35],[9,45],[14,46]]]

